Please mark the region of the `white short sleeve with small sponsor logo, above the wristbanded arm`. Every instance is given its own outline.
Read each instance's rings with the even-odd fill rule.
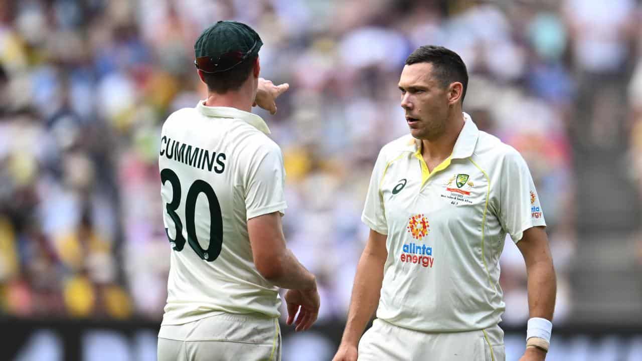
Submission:
[[[503,161],[499,179],[499,222],[517,243],[526,229],[546,225],[544,212],[528,165],[513,148]]]

